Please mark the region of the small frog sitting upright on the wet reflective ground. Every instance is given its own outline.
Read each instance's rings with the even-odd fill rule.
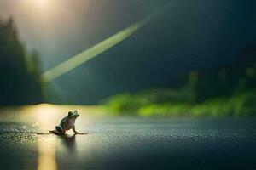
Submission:
[[[68,111],[67,116],[61,119],[59,125],[55,126],[55,130],[50,130],[49,133],[55,133],[58,135],[64,135],[68,130],[72,129],[75,134],[87,134],[79,133],[76,131],[75,121],[79,117],[78,111]]]

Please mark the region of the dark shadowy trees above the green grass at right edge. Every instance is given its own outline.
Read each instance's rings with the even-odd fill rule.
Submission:
[[[208,71],[199,71],[194,85],[196,100],[199,102],[212,97],[255,90],[256,43],[247,45],[236,59],[226,65]]]

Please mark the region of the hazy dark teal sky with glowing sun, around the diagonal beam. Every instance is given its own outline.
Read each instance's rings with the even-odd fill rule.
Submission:
[[[40,7],[39,1],[44,1]],[[230,62],[256,38],[255,1],[16,2],[1,1],[0,14],[14,16],[27,48],[41,54],[44,71],[160,12],[132,37],[50,83],[73,104],[96,103],[119,92],[178,87],[188,71]]]

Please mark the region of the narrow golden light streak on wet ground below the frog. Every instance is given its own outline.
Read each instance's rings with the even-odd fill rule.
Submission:
[[[38,170],[55,170],[55,136],[43,137],[38,142]]]

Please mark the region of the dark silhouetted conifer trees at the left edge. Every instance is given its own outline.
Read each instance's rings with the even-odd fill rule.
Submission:
[[[0,21],[0,105],[43,101],[38,54],[27,54],[12,19]]]

